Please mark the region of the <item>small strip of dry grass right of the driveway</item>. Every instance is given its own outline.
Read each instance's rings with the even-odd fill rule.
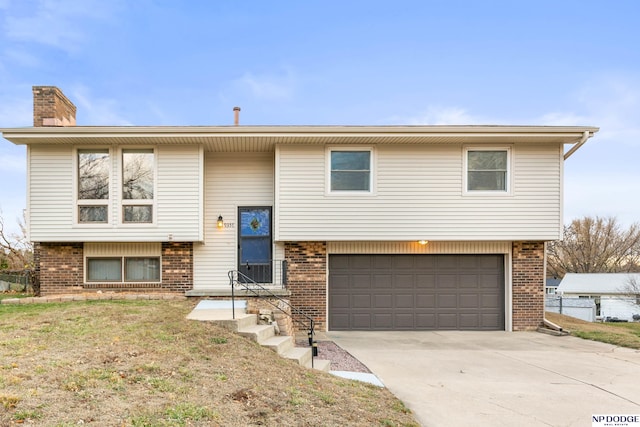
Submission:
[[[640,323],[592,323],[557,313],[545,317],[576,337],[640,349]]]

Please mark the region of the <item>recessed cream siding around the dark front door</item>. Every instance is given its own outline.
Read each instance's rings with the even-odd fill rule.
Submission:
[[[205,170],[205,241],[194,246],[194,289],[228,289],[227,273],[237,268],[238,207],[273,206],[273,153],[207,152]],[[282,259],[279,247],[274,257]]]

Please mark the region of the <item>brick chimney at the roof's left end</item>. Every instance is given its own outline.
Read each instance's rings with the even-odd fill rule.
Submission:
[[[55,86],[33,87],[33,126],[75,126],[76,106]]]

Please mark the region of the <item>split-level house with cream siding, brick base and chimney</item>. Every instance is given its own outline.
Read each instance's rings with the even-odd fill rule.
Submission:
[[[327,330],[525,330],[544,316],[576,126],[76,126],[33,88],[42,294],[224,296],[239,270]]]

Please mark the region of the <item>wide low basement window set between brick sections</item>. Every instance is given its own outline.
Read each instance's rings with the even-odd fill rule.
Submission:
[[[158,257],[87,258],[87,282],[159,281]]]

